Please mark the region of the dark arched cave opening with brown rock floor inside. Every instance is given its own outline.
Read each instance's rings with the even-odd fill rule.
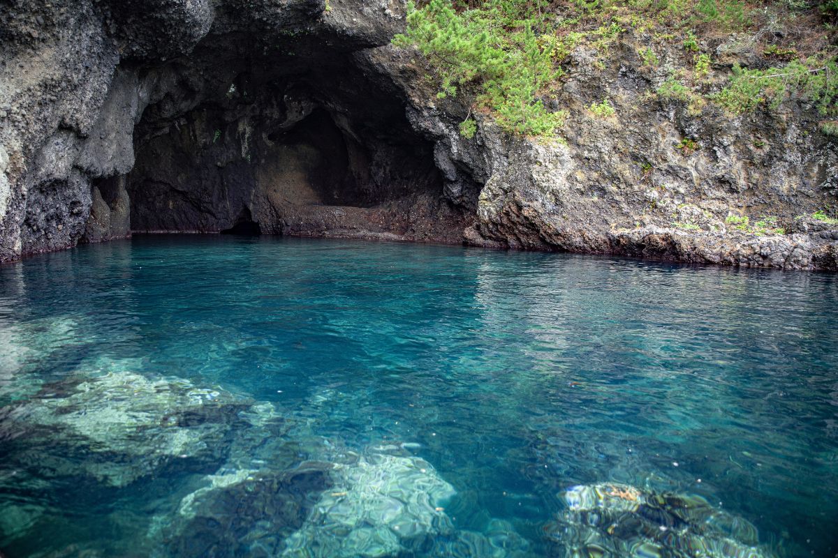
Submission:
[[[165,89],[133,132],[132,233],[462,242],[478,188],[446,195],[404,90],[357,45],[279,37],[210,33],[135,70]]]

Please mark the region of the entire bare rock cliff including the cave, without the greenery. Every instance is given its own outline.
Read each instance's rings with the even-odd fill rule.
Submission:
[[[135,232],[262,232],[836,269],[814,107],[649,96],[648,38],[572,54],[563,141],[458,132],[390,45],[401,2],[53,0],[0,8],[0,260]],[[731,39],[732,40],[732,39]],[[720,64],[732,64],[726,44]],[[587,107],[608,98],[614,114]],[[694,143],[685,147],[683,141]],[[679,147],[680,146],[680,147]],[[762,230],[730,223],[764,216]],[[782,228],[783,233],[777,229]]]

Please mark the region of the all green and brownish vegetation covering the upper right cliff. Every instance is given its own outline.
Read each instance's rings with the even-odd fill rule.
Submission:
[[[684,102],[693,115],[707,102],[742,114],[789,98],[838,115],[836,14],[838,3],[806,0],[430,0],[409,3],[406,32],[394,42],[426,57],[440,98],[462,95],[505,131],[551,136],[566,117],[557,96],[574,50],[594,53],[606,71],[609,49],[629,33],[643,43],[638,65],[649,72],[660,54],[681,53],[670,56],[669,77],[652,95]],[[757,54],[752,67],[713,60],[727,38],[738,42],[740,58]],[[594,108],[602,117],[606,105]],[[470,114],[461,131],[473,136]]]

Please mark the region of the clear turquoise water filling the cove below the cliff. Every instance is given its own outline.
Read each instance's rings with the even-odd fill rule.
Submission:
[[[0,266],[0,553],[832,556],[838,276],[289,238]]]

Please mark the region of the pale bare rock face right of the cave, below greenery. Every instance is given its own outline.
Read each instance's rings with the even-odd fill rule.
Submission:
[[[835,219],[812,217],[835,207],[838,194],[838,152],[834,140],[815,132],[817,112],[794,106],[732,118],[706,105],[691,115],[685,102],[649,97],[665,68],[642,74],[629,65],[640,65],[637,39],[624,36],[623,54],[604,70],[600,60],[577,53],[574,78],[561,95],[570,109],[563,141],[512,140],[479,113],[477,134],[468,140],[458,134],[464,108],[423,102],[427,95],[412,98],[411,122],[435,141],[437,166],[449,184],[478,184],[466,242],[836,269]],[[417,77],[401,81],[408,87]],[[602,118],[587,108],[605,98],[614,115]],[[683,147],[685,140],[694,147]],[[766,219],[768,230],[742,225],[748,216],[751,223]]]

